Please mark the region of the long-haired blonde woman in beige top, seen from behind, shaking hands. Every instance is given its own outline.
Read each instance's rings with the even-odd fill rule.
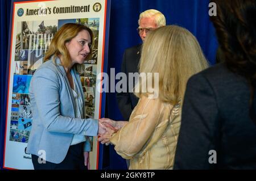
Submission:
[[[108,132],[99,141],[113,144],[130,160],[129,169],[172,169],[185,86],[191,75],[207,67],[199,43],[185,28],[165,26],[150,32],[139,64],[145,76],[134,89],[139,102],[129,121],[100,119]],[[152,89],[148,81],[154,82]]]

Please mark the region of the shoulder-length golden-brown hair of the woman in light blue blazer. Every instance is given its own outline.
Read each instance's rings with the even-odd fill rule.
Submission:
[[[93,44],[93,32],[92,30],[90,30],[90,28],[82,24],[76,24],[76,23],[64,24],[53,37],[51,44],[49,45],[49,49],[46,52],[46,56],[44,57],[44,62],[48,61],[52,56],[53,56],[53,60],[55,61],[55,58],[61,54],[63,56],[61,65],[63,65],[66,68],[69,68],[72,62],[71,62],[71,57],[68,52],[68,49],[65,46],[65,43],[71,41],[73,37],[77,36],[77,34],[82,30],[89,32],[90,39]],[[93,46],[91,45],[90,53],[88,54],[86,59],[90,58],[90,55],[92,53],[92,49],[91,49],[92,47]],[[77,65],[77,68],[79,68],[79,65]]]

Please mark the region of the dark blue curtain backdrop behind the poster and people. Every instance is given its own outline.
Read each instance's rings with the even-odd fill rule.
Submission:
[[[176,24],[187,28],[199,40],[205,56],[210,64],[215,63],[217,40],[214,28],[209,22],[208,0],[112,0],[110,12],[110,34],[108,72],[115,68],[115,74],[121,69],[122,54],[126,48],[141,43],[136,28],[138,27],[139,14],[147,9],[156,9],[166,16],[167,24]],[[0,120],[0,166],[3,160],[3,143],[5,134],[5,111],[7,92],[7,41],[9,32],[9,16],[11,1],[1,0],[1,120]],[[122,120],[118,110],[115,93],[106,96],[105,117]],[[127,169],[124,159],[119,157],[113,146],[104,146],[103,169]]]

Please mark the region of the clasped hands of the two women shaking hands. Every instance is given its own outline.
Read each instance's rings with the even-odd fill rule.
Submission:
[[[98,141],[101,144],[109,145],[110,138],[113,134],[118,132],[128,121],[114,121],[108,118],[101,118],[98,120]]]

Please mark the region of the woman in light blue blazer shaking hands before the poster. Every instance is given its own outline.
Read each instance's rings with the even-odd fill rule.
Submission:
[[[33,124],[27,152],[34,169],[89,169],[88,136],[105,132],[98,120],[85,119],[78,73],[90,55],[92,40],[88,27],[64,24],[49,45],[46,62],[32,77]]]

